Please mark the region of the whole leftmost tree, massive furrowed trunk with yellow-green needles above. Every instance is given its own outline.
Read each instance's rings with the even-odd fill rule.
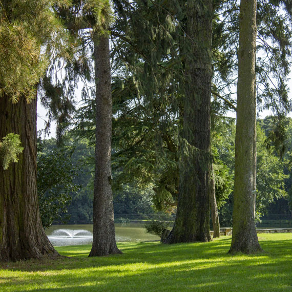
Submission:
[[[50,4],[1,2],[0,140],[18,134],[24,148],[18,163],[0,168],[1,261],[58,256],[41,225],[36,190],[35,87],[46,68],[40,46],[56,32]]]

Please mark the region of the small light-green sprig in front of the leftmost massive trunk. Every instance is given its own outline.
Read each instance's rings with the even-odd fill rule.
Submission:
[[[0,142],[0,165],[7,170],[11,162],[18,162],[17,156],[24,150],[18,134],[9,133]]]

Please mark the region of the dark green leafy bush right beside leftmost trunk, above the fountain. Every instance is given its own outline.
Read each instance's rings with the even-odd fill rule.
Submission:
[[[37,154],[37,193],[41,221],[45,228],[53,221],[68,221],[67,207],[79,186],[73,178],[77,168],[72,164],[74,148],[64,146],[55,148],[52,141],[39,143]]]

